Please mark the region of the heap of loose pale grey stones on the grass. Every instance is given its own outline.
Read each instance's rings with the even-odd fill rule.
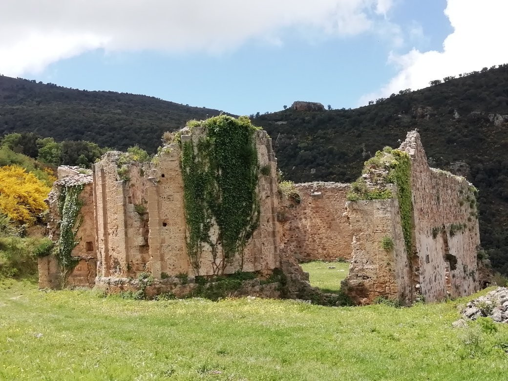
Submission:
[[[466,319],[490,317],[494,322],[508,323],[508,289],[499,287],[485,296],[467,303],[462,311]]]

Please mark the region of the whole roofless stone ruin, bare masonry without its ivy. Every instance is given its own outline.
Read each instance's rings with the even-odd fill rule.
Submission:
[[[330,182],[296,184],[298,197],[285,197],[277,187],[271,139],[258,130],[253,144],[259,162],[259,224],[233,258],[203,244],[199,259],[193,260],[188,252],[182,148],[190,142],[196,149],[206,134],[199,126],[183,129],[181,140],[163,147],[151,163],[120,165],[123,154],[108,152],[91,173],[60,167],[48,198],[48,227],[50,238],[58,241],[61,188],[81,184],[79,243],[72,250],[77,266],[62,274],[56,257],[39,259],[40,288],[61,287],[63,281],[108,293],[142,289],[147,297],[181,297],[193,295],[204,279],[213,282],[216,277],[251,273],[255,276],[234,295],[328,303],[333,296],[310,287],[298,263],[336,259],[351,262],[342,291],[357,304],[377,297],[405,305],[441,301],[470,295],[484,285],[489,271],[478,260],[474,188],[464,178],[429,168],[417,132],[408,133],[399,148],[410,160],[411,209],[405,216],[411,220],[410,246],[397,185],[376,184],[376,171],[387,172],[386,168],[373,169],[363,180],[371,189],[388,189],[390,197],[348,201],[353,185]],[[214,224],[212,220],[209,234],[217,239]]]

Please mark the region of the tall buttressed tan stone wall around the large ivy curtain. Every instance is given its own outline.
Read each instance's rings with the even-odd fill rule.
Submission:
[[[197,144],[203,134],[199,126],[192,132],[183,130],[181,141]],[[225,274],[258,271],[269,275],[280,266],[276,159],[266,132],[257,131],[255,143],[259,167],[269,169],[269,174],[259,175],[260,224],[243,256],[230,261]],[[193,267],[187,255],[180,144],[165,146],[156,164],[119,166],[120,155],[108,152],[93,167],[99,251],[97,284],[108,291],[136,288],[129,279],[149,272],[160,283],[160,290],[183,295],[193,287],[175,288],[182,276],[193,284],[197,275],[217,275],[209,247],[203,245],[198,268]],[[214,229],[212,226],[212,234]]]

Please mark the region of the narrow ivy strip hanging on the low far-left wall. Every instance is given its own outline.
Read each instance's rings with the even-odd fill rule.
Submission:
[[[62,287],[79,262],[78,259],[72,256],[72,250],[81,240],[81,238],[76,238],[76,235],[83,218],[81,216],[78,220],[79,211],[83,206],[83,202],[79,199],[83,187],[83,184],[64,186],[60,190],[58,199],[61,220],[59,223],[60,238],[56,245],[55,255],[60,266]]]

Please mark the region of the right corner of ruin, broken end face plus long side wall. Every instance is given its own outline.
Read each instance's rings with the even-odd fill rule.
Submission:
[[[386,183],[390,168],[371,164],[363,179],[377,192],[371,197],[382,200],[346,204],[354,235],[348,294],[360,303],[370,303],[377,296],[409,303],[478,291],[480,235],[474,187],[462,177],[429,168],[416,131],[408,133],[399,150],[411,161],[412,208],[407,211],[411,249],[407,252],[401,230],[399,190]],[[393,241],[393,248],[381,247],[383,236]]]

